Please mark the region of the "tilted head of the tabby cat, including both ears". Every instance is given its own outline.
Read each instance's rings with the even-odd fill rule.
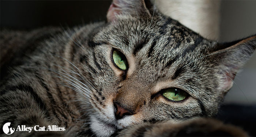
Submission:
[[[93,83],[89,98],[93,132],[108,136],[143,121],[216,114],[252,49],[237,52],[220,46],[154,7],[147,8],[144,1],[132,2],[131,6],[114,1],[108,24],[95,29],[78,53],[78,66]]]

